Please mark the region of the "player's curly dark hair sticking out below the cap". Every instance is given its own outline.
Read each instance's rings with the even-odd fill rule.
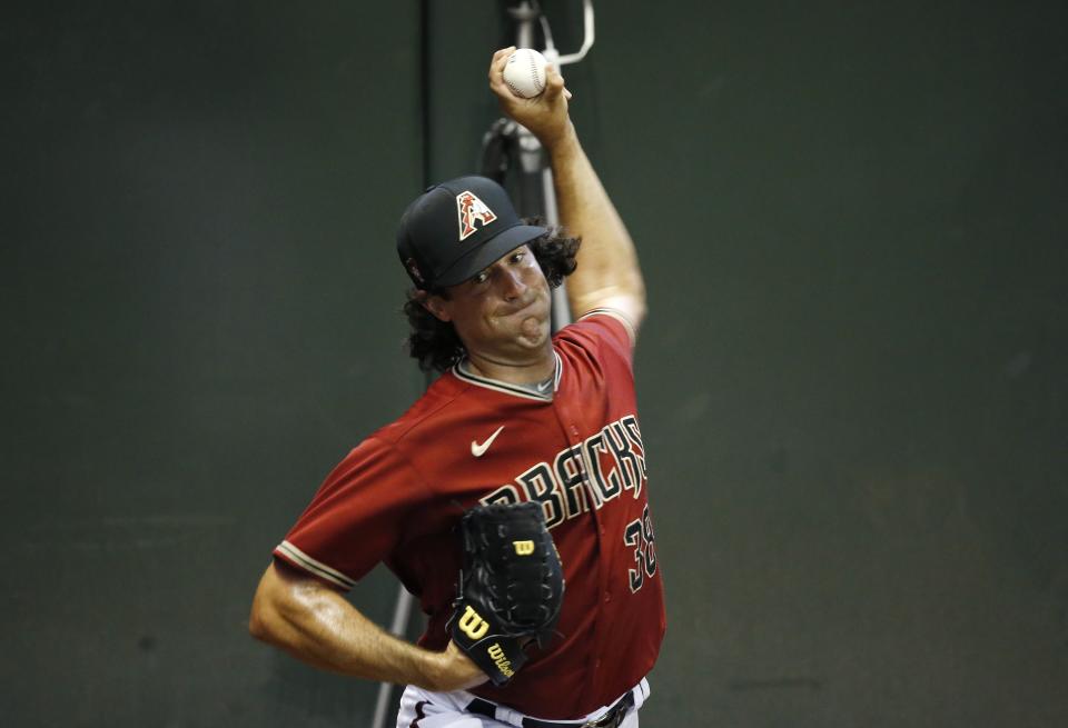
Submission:
[[[538,220],[527,220],[527,225],[540,225]],[[545,235],[526,243],[545,276],[550,288],[557,288],[564,278],[575,271],[575,253],[581,240],[568,238],[563,228],[551,227]],[[425,293],[447,298],[444,290],[408,290],[408,300],[404,303],[404,315],[408,317],[412,332],[405,341],[405,348],[423,371],[445,371],[464,358],[465,349],[452,323],[442,321],[421,303]]]

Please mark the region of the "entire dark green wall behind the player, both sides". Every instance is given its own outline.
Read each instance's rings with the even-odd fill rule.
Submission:
[[[512,39],[429,4],[427,136],[414,2],[6,13],[4,726],[369,722],[246,619],[422,389],[396,220],[475,169]],[[642,725],[1068,725],[1066,6],[596,10],[564,72],[650,295]]]

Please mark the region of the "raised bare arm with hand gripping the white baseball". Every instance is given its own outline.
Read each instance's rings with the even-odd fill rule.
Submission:
[[[596,308],[622,313],[637,332],[645,318],[645,282],[626,226],[586,157],[567,113],[571,94],[555,68],[546,68],[545,91],[533,99],[512,93],[504,66],[513,48],[497,51],[490,66],[490,87],[501,108],[530,129],[548,151],[560,220],[568,235],[582,238],[578,267],[567,278],[567,301],[577,318]]]

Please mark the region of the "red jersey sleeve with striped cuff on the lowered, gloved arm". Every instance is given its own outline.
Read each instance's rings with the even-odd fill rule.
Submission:
[[[388,443],[368,438],[327,476],[274,555],[350,589],[397,546],[427,492]]]

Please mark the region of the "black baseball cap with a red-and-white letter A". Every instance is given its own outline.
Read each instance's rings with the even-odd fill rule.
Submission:
[[[416,288],[462,283],[547,232],[524,225],[504,188],[485,177],[428,187],[400,218],[397,255]]]

